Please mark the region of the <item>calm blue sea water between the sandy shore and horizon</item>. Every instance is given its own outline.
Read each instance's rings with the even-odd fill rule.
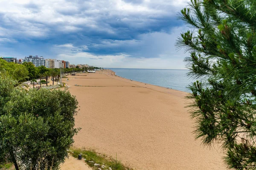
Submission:
[[[137,68],[108,68],[116,72],[117,76],[172,88],[179,91],[190,92],[186,87],[193,82],[186,76],[188,70],[165,70],[165,69],[137,69]]]

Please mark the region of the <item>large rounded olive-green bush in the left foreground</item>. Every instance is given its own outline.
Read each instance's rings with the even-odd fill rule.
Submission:
[[[0,77],[0,164],[16,169],[58,169],[73,144],[78,102],[68,91],[14,88]]]

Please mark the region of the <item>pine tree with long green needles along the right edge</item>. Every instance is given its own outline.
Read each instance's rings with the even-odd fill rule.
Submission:
[[[177,47],[189,76],[191,117],[203,144],[221,144],[230,169],[256,169],[256,1],[191,0],[179,18],[191,30]]]

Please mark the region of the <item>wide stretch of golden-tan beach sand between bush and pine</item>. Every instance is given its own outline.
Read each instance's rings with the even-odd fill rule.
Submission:
[[[195,141],[186,93],[116,77],[69,76],[79,101],[74,147],[116,157],[137,170],[223,170],[223,153]],[[82,76],[87,75],[87,76]],[[83,86],[75,86],[83,85]]]

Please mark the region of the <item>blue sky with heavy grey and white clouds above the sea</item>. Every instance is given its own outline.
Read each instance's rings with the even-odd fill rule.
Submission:
[[[0,56],[104,68],[184,69],[188,0],[0,0]]]

